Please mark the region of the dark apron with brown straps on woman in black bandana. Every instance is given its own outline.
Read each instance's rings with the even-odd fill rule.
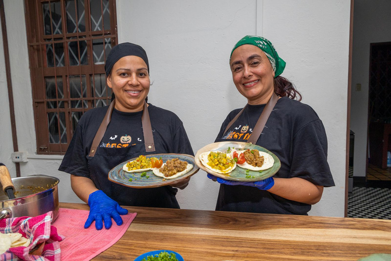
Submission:
[[[121,149],[99,147],[99,143],[111,120],[111,113],[113,113],[114,106],[115,99],[110,103],[106,115],[95,135],[88,156],[88,167],[91,179],[96,188],[102,190],[107,196],[117,201],[120,205],[179,208],[179,204],[175,198],[177,189],[174,189],[171,186],[135,189],[108,180],[108,172],[118,164],[139,155],[157,154],[157,152],[155,152],[155,143],[153,140],[147,102],[144,102],[142,116],[145,144],[135,144]],[[160,151],[158,153],[164,152]]]

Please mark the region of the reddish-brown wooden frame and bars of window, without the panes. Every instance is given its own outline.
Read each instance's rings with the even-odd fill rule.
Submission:
[[[96,103],[105,103],[108,105],[110,103],[111,90],[106,86],[106,92],[104,96],[96,96],[96,84],[95,84],[95,75],[100,74],[100,77],[103,77],[102,74],[104,71],[104,63],[94,64],[93,57],[93,40],[102,40],[103,44],[103,54],[104,62],[107,57],[106,52],[106,39],[110,39],[111,48],[118,44],[118,34],[117,34],[117,12],[116,12],[116,1],[107,0],[109,8],[109,21],[110,21],[110,30],[105,30],[104,27],[104,9],[102,1],[101,3],[101,15],[102,15],[102,30],[100,31],[91,31],[91,7],[90,3],[93,0],[83,0],[85,16],[85,32],[79,32],[78,22],[76,17],[76,33],[67,33],[67,14],[66,14],[66,3],[69,1],[74,1],[75,4],[75,14],[78,11],[77,0],[25,0],[25,18],[26,18],[26,33],[27,33],[27,46],[29,48],[29,62],[30,62],[30,73],[31,73],[31,84],[33,91],[33,107],[34,107],[34,120],[35,120],[35,129],[36,129],[36,140],[37,140],[37,154],[65,154],[68,145],[73,136],[73,130],[75,128],[72,122],[72,113],[84,113],[96,106]],[[62,33],[61,34],[52,34],[45,35],[44,31],[44,14],[43,14],[43,4],[60,3],[61,4],[61,19],[62,19]],[[77,13],[78,14],[78,13]],[[46,24],[47,25],[47,24]],[[53,33],[52,28],[52,11],[50,10],[50,27],[51,33]],[[77,65],[71,66],[69,62],[69,42],[77,41],[80,42],[85,40],[87,42],[87,65]],[[63,43],[64,48],[64,66],[57,67],[54,44]],[[47,66],[47,45],[51,44],[52,53],[53,53],[53,67]],[[78,48],[80,49],[79,43]],[[78,53],[79,64],[81,64],[80,53]],[[82,75],[85,75],[86,85],[86,97],[83,97],[83,90],[81,90],[80,98],[70,98],[70,81],[69,76],[79,75],[80,84]],[[53,99],[48,99],[46,94],[45,86],[45,77],[54,77],[55,84],[55,93],[56,97]],[[58,90],[58,79],[62,80],[63,84],[63,98],[59,98]],[[92,80],[91,80],[92,79]],[[105,79],[105,78],[104,78]],[[105,81],[104,81],[105,85]],[[80,87],[82,88],[82,87]],[[95,95],[94,95],[95,94]],[[72,101],[81,101],[80,108],[72,108]],[[55,102],[57,105],[55,108],[49,109],[48,102]],[[64,108],[59,108],[59,102],[63,102]],[[87,106],[85,106],[87,105]],[[48,113],[57,113],[57,127],[58,127],[58,143],[50,142],[49,138],[49,119]],[[61,129],[64,130],[64,127],[60,126],[61,120],[60,114],[65,114],[65,130],[66,130],[66,143],[62,142]],[[63,124],[64,125],[64,124]],[[64,131],[65,132],[65,131]],[[63,132],[63,134],[64,134]]]

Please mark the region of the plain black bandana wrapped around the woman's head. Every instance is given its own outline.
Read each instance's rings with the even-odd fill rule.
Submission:
[[[110,71],[113,68],[114,64],[125,56],[138,56],[139,58],[143,59],[144,62],[147,64],[149,73],[148,57],[143,47],[134,43],[120,43],[114,46],[107,56],[106,64],[104,65],[106,76],[110,74]]]

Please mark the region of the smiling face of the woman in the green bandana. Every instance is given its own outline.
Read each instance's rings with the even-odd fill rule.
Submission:
[[[265,53],[254,45],[244,44],[232,53],[232,78],[248,104],[265,104],[274,92],[274,71]]]

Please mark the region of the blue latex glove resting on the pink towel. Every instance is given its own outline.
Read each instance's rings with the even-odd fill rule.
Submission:
[[[95,227],[97,230],[104,227],[109,229],[111,227],[111,218],[117,223],[122,225],[122,218],[120,215],[128,214],[125,208],[122,208],[116,201],[109,198],[103,191],[97,190],[90,194],[88,197],[88,205],[90,206],[90,214],[84,224],[84,228],[90,227],[92,222],[95,220]]]

